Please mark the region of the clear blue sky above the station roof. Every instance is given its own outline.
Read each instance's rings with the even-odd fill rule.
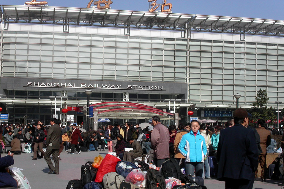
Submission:
[[[89,0],[45,1],[49,6],[57,7],[86,7],[89,3]],[[112,1],[112,9],[148,11],[149,8],[147,0]],[[162,2],[163,0],[157,0],[157,3]],[[25,0],[0,0],[1,5],[23,5],[24,3]],[[284,20],[283,0],[167,0],[167,3],[173,4],[173,13]]]

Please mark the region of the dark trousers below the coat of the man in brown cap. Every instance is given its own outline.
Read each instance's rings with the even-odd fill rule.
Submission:
[[[254,179],[227,179],[225,182],[226,189],[252,189]]]

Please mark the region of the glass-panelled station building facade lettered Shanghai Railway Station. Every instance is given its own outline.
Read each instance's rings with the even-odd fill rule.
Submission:
[[[181,99],[174,112],[181,121],[188,110],[199,119],[227,120],[236,93],[244,108],[259,89],[267,90],[269,106],[284,101],[279,35],[240,40],[240,34],[203,31],[182,38],[180,31],[163,29],[132,28],[126,35],[116,27],[68,26],[66,32],[56,24],[7,22],[2,17],[0,103],[9,123],[48,122],[55,103],[50,96],[67,96],[57,108],[85,106],[87,89],[91,104],[131,101],[168,110],[165,99]],[[81,123],[82,112],[75,115]]]

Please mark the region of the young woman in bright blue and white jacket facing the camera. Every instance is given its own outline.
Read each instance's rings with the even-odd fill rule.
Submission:
[[[179,143],[179,151],[185,157],[185,172],[187,175],[195,175],[202,177],[204,167],[204,157],[207,153],[207,147],[204,137],[198,131],[200,128],[199,122],[193,120],[190,123],[191,131],[182,136]]]

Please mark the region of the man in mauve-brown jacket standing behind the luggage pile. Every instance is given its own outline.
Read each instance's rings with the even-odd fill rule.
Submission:
[[[168,129],[160,122],[159,116],[152,117],[154,129],[151,133],[151,145],[154,149],[154,163],[161,167],[163,162],[170,158]]]

